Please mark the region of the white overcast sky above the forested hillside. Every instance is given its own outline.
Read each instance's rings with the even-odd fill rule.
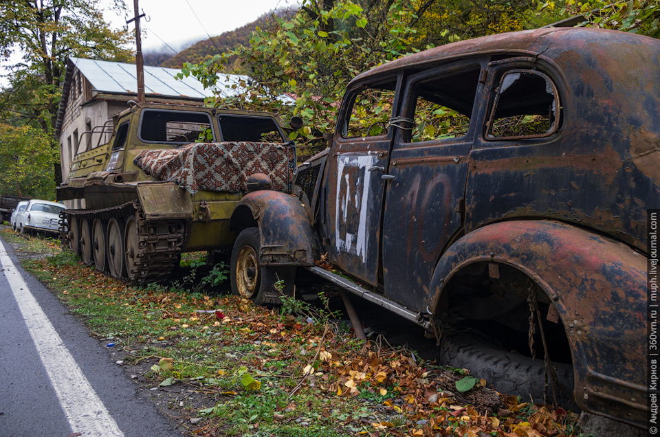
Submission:
[[[133,16],[133,0],[124,1],[130,17],[106,13],[115,27],[125,26],[125,19]],[[179,51],[185,45],[207,39],[206,32],[217,36],[250,23],[266,12],[297,3],[296,0],[140,0],[140,9],[146,14],[140,21],[146,32],[142,36],[142,49],[152,52],[167,43]],[[133,23],[130,26],[135,28]]]

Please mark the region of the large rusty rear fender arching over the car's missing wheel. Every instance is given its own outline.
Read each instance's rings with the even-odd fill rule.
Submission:
[[[571,345],[582,410],[646,421],[646,262],[615,240],[556,221],[507,221],[460,238],[440,259],[429,303],[475,262],[516,267],[555,304]],[[446,286],[446,287],[445,287]]]

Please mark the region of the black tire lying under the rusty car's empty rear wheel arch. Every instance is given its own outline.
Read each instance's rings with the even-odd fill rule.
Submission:
[[[466,368],[476,378],[484,378],[488,387],[503,394],[520,395],[523,402],[543,403],[544,372],[543,359],[525,357],[510,352],[489,341],[467,333],[443,337],[439,361],[445,366]],[[562,390],[558,392],[559,406],[579,411],[573,399],[573,366],[553,363]],[[549,387],[549,403],[552,390]]]

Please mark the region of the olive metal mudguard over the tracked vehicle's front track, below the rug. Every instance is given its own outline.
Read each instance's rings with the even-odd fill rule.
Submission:
[[[137,196],[146,219],[192,218],[190,194],[176,183],[140,183]]]

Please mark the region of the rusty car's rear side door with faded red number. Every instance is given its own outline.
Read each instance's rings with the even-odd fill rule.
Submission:
[[[386,296],[423,311],[433,269],[464,219],[468,161],[483,115],[485,60],[426,69],[406,81],[383,217]]]

